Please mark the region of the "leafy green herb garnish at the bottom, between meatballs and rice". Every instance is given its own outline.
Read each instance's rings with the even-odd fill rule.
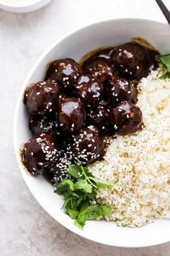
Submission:
[[[95,178],[87,167],[69,166],[69,179],[56,185],[55,192],[63,196],[63,210],[74,220],[74,224],[83,229],[86,220],[100,216],[111,216],[109,205],[99,205],[96,201],[96,188],[112,189],[115,183]]]

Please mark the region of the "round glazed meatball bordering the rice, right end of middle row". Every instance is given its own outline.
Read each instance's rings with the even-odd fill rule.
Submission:
[[[127,101],[122,101],[118,106],[112,108],[111,116],[118,135],[136,132],[143,125],[140,108]]]

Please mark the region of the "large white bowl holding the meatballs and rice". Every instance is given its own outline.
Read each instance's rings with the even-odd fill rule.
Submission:
[[[99,46],[116,46],[128,42],[133,37],[146,38],[162,54],[170,53],[169,25],[139,19],[108,20],[81,28],[58,40],[43,54],[32,68],[24,82],[14,116],[14,148],[20,171],[32,195],[50,216],[67,229],[80,236],[102,244],[117,247],[146,247],[169,242],[170,221],[156,220],[140,228],[122,228],[114,222],[87,221],[84,230],[79,230],[73,221],[61,210],[63,200],[53,193],[53,187],[42,176],[28,175],[19,160],[19,147],[30,137],[27,127],[27,114],[22,102],[24,88],[32,82],[43,79],[45,65],[54,59],[71,57],[79,60],[81,56]]]

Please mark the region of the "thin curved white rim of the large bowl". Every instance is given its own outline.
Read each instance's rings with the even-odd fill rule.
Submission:
[[[27,74],[27,77],[26,79],[24,80],[24,83],[22,84],[22,87],[20,88],[19,90],[19,95],[18,95],[18,98],[17,98],[17,103],[16,103],[16,107],[15,107],[15,110],[14,110],[14,120],[13,120],[13,142],[14,142],[14,152],[15,152],[15,155],[16,155],[16,158],[17,158],[17,163],[18,163],[18,166],[19,166],[19,171],[22,173],[22,177],[24,179],[24,182],[26,183],[28,189],[30,190],[31,194],[33,195],[33,197],[35,197],[35,200],[37,200],[37,202],[40,204],[40,206],[45,210],[45,212],[48,213],[48,215],[50,215],[55,221],[57,221],[58,223],[60,223],[62,226],[64,226],[66,229],[68,229],[69,231],[72,231],[74,234],[76,235],[79,235],[85,239],[88,239],[89,241],[93,241],[93,242],[97,242],[98,244],[105,244],[105,245],[109,245],[109,246],[112,246],[112,247],[122,247],[122,245],[120,244],[110,244],[109,242],[98,242],[97,239],[95,239],[95,237],[93,239],[87,237],[85,234],[81,234],[81,232],[79,231],[79,229],[77,229],[76,231],[73,230],[71,227],[68,227],[65,223],[63,223],[61,220],[56,220],[56,218],[53,216],[53,214],[50,213],[50,211],[48,210],[48,208],[45,207],[45,205],[42,205],[42,203],[39,202],[39,200],[37,199],[37,196],[34,194],[34,192],[32,191],[32,186],[30,186],[30,184],[28,184],[26,182],[26,179],[24,178],[24,173],[23,173],[23,166],[22,166],[22,163],[20,161],[20,158],[19,158],[19,148],[17,147],[17,116],[19,114],[19,106],[20,106],[20,103],[23,99],[23,90],[24,88],[26,88],[27,84],[28,84],[28,81],[30,80],[30,77],[32,76],[32,73],[35,71],[35,69],[37,69],[37,67],[39,66],[40,62],[42,61],[42,59],[45,58],[45,56],[48,55],[48,53],[50,53],[50,51],[53,50],[53,48],[55,48],[55,46],[58,44],[58,43],[61,43],[62,40],[65,40],[66,38],[68,38],[68,36],[70,35],[73,35],[74,33],[79,33],[79,31],[81,30],[84,30],[85,28],[88,28],[88,27],[91,27],[93,25],[99,25],[100,23],[103,23],[103,22],[112,22],[112,20],[139,20],[139,21],[145,21],[145,22],[156,22],[158,24],[162,24],[162,25],[168,25],[168,22],[166,22],[166,20],[164,22],[160,22],[158,20],[155,20],[155,19],[146,19],[145,17],[142,18],[138,18],[138,17],[123,17],[123,18],[113,18],[113,19],[108,19],[108,20],[100,20],[98,22],[92,22],[92,23],[89,23],[87,25],[84,25],[84,26],[81,26],[81,27],[78,27],[74,30],[71,30],[69,33],[66,33],[65,35],[63,35],[61,38],[59,38],[58,40],[55,40],[55,42],[50,45],[48,47],[48,49],[40,55],[40,57],[37,59],[37,61],[35,62],[35,64],[33,65],[32,69],[30,70],[29,74]],[[140,248],[140,247],[151,247],[151,246],[154,246],[154,245],[158,245],[158,244],[164,244],[166,242],[169,242],[170,241],[170,238],[169,239],[166,239],[166,241],[161,241],[160,242],[149,242],[148,244],[141,244],[141,245],[138,245],[138,247],[135,247],[132,245],[128,246],[123,246],[125,248]]]

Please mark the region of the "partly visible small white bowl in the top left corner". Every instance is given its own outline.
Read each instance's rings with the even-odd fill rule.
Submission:
[[[30,0],[22,1],[19,4],[12,4],[0,0],[0,8],[7,12],[33,12],[37,9],[45,7],[51,0]]]

